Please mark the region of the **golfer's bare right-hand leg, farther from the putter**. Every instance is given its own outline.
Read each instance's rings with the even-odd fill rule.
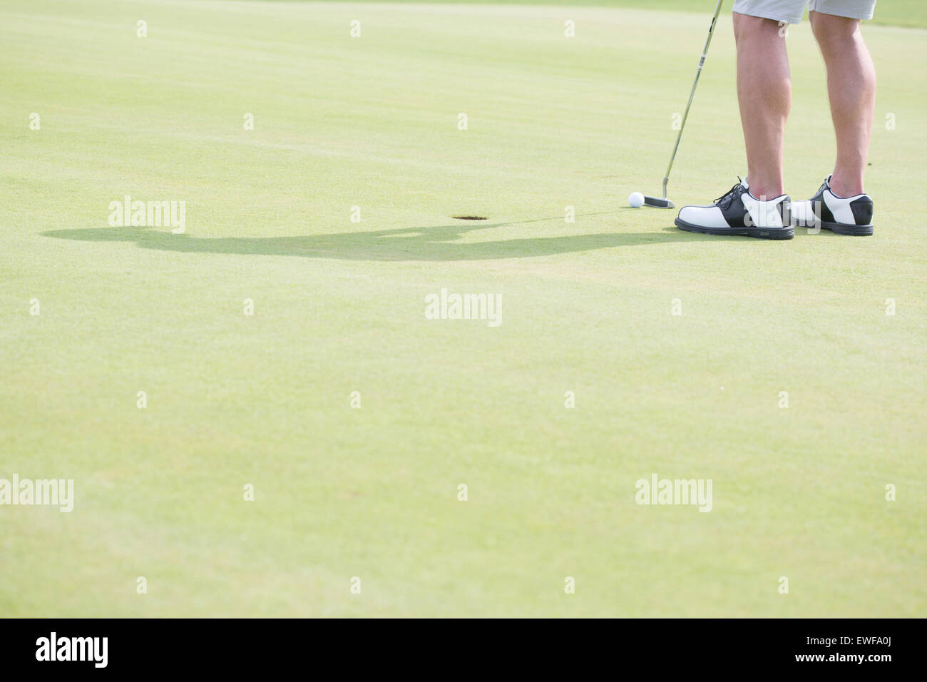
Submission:
[[[837,133],[831,188],[838,197],[854,197],[864,191],[875,112],[875,67],[863,42],[859,19],[821,12],[811,12],[809,17],[827,65],[827,89]]]

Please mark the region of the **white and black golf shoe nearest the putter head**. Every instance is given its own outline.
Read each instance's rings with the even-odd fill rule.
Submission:
[[[791,239],[795,236],[791,203],[785,194],[776,199],[756,199],[750,194],[747,181],[741,180],[710,206],[683,206],[676,226],[706,235]]]

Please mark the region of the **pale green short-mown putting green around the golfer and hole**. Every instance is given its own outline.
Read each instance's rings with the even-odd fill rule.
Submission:
[[[927,615],[927,8],[864,26],[874,236],[768,241],[628,207],[714,1],[566,4],[0,3],[0,480],[74,490],[0,505],[0,617]]]

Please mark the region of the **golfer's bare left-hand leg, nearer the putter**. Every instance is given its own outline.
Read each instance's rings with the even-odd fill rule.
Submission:
[[[750,193],[774,199],[785,193],[782,138],[792,109],[792,79],[780,22],[734,12],[737,97],[747,150]]]

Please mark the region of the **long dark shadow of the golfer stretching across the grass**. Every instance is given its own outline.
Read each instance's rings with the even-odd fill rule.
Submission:
[[[563,220],[544,218],[521,221],[539,223]],[[468,232],[520,223],[464,222],[433,227],[403,227],[372,232],[340,232],[298,237],[199,238],[174,235],[146,227],[84,227],[43,232],[45,237],[80,241],[127,241],[143,249],[186,253],[229,253],[242,255],[303,256],[355,261],[480,261],[500,258],[528,258],[554,253],[592,251],[617,246],[640,246],[702,238],[673,228],[661,232],[612,232],[568,237],[530,237],[460,243]]]

